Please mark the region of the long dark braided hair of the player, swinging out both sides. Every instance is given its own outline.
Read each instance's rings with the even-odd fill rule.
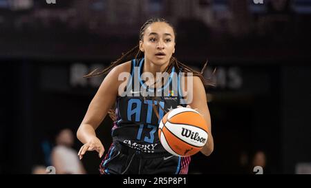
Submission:
[[[149,25],[151,25],[152,23],[156,23],[156,22],[164,22],[164,23],[167,23],[168,25],[170,25],[171,28],[173,28],[173,32],[176,36],[176,30],[173,27],[173,25],[171,25],[171,23],[169,23],[169,21],[167,21],[166,19],[163,19],[163,18],[153,18],[153,19],[149,19],[148,21],[146,21],[146,23],[144,23],[144,25],[142,25],[142,27],[140,28],[140,35],[139,35],[140,41],[143,40],[144,32],[149,27]],[[175,37],[175,39],[176,39],[176,37]],[[93,72],[85,75],[84,78],[89,78],[92,76],[99,76],[101,74],[106,74],[111,69],[113,69],[113,67],[120,65],[121,63],[124,63],[126,60],[128,61],[129,59],[140,59],[142,57],[144,57],[144,52],[140,51],[139,45],[135,45],[135,47],[132,48],[131,50],[129,50],[128,52],[122,53],[122,56],[119,59],[117,59],[116,61],[113,61],[111,63],[111,65],[106,67],[104,70],[102,70],[100,72],[97,72],[97,69],[93,70]],[[187,72],[191,72],[193,74],[193,76],[198,76],[200,78],[200,80],[202,81],[203,85],[205,85],[205,86],[214,85],[214,83],[211,83],[209,81],[209,79],[205,79],[205,77],[203,76],[203,72],[204,72],[206,66],[207,66],[207,61],[205,62],[205,65],[202,67],[202,70],[200,72],[198,72],[196,70],[191,69],[191,67],[188,67],[184,63],[180,63],[180,61],[178,61],[175,57],[171,56],[171,59],[169,61],[169,65],[167,66],[166,70],[164,70],[164,72],[170,73],[172,68],[175,67],[176,72],[185,72],[186,74],[187,74]],[[153,97],[153,100],[154,100],[154,97]],[[157,103],[157,104],[159,104],[159,103]],[[156,115],[159,118],[158,110],[156,109],[156,105],[154,103],[153,103],[153,110],[156,112]],[[111,119],[113,119],[113,121],[116,121],[115,109],[110,109],[108,113],[109,113],[109,116],[111,117]]]

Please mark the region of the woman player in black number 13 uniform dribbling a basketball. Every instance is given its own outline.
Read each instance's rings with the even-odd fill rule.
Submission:
[[[158,125],[162,116],[170,109],[182,104],[180,92],[169,90],[174,81],[180,81],[173,74],[178,72],[191,72],[192,78],[185,76],[185,81],[192,80],[193,99],[188,107],[197,109],[203,114],[208,125],[207,143],[200,150],[202,154],[209,156],[214,149],[214,141],[211,136],[211,120],[204,87],[204,78],[200,72],[196,72],[177,61],[172,54],[175,52],[176,32],[173,26],[165,19],[150,19],[140,29],[139,45],[123,54],[120,59],[113,62],[102,72],[91,72],[86,77],[106,75],[102,85],[95,94],[88,107],[86,115],[77,130],[77,138],[84,144],[79,150],[80,159],[87,151],[96,150],[100,158],[104,154],[104,147],[95,134],[95,129],[103,121],[106,114],[111,115],[114,126],[111,131],[113,143],[104,160],[100,164],[101,174],[187,174],[190,157],[172,156],[161,145],[158,138]],[[131,61],[125,61],[128,58]],[[205,63],[206,65],[206,63]],[[204,69],[204,67],[203,67]],[[120,93],[120,85],[124,80],[119,76],[124,72],[126,86]],[[142,79],[142,74],[149,72],[156,77],[157,72],[167,72],[168,76],[161,81]],[[179,77],[178,77],[179,78]],[[138,87],[134,87],[137,85]],[[187,84],[185,84],[187,86]],[[135,88],[138,88],[136,90]],[[140,88],[147,92],[161,92],[162,96],[146,96]],[[116,105],[115,112],[111,107]]]

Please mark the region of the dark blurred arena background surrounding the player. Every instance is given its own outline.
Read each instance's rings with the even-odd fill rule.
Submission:
[[[311,1],[0,0],[1,174],[55,160],[99,174],[95,152],[73,155],[104,79],[82,76],[138,44],[151,17],[175,26],[179,61],[200,70],[208,59],[207,78],[216,68],[214,153],[193,156],[189,174],[311,174]],[[111,127],[107,116],[97,129],[106,151]]]

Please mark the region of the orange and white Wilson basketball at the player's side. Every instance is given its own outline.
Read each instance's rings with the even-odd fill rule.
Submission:
[[[175,156],[192,156],[207,142],[207,123],[196,110],[178,107],[163,116],[158,134],[167,152]]]

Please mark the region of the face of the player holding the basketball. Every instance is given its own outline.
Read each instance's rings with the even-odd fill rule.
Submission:
[[[151,23],[144,31],[143,41],[140,41],[140,50],[145,59],[155,65],[169,63],[175,52],[175,34],[167,23]]]

